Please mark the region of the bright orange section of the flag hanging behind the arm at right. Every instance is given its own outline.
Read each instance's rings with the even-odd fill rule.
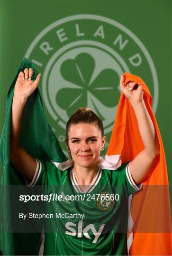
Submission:
[[[143,86],[146,109],[154,124],[160,146],[160,156],[143,182],[143,190],[133,195],[130,204],[132,230],[128,230],[130,255],[172,255],[172,221],[168,173],[163,141],[154,116],[152,96],[138,76],[124,73],[129,81]],[[122,163],[132,161],[144,150],[135,112],[124,93],[121,93],[107,155],[121,155]],[[138,170],[139,172],[139,170]],[[129,225],[130,225],[129,223]]]

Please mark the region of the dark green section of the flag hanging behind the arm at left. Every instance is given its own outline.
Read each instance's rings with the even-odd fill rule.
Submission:
[[[21,203],[19,204],[19,194],[29,193],[29,188],[27,188],[23,176],[10,164],[9,159],[10,117],[14,87],[19,72],[24,71],[25,68],[33,68],[32,80],[35,81],[36,79],[37,71],[34,65],[27,58],[24,58],[9,88],[6,101],[6,117],[0,138],[0,158],[3,165],[1,178],[1,246],[3,255],[38,255],[43,229],[41,222],[39,222],[40,232],[13,232],[14,227],[16,227],[15,218],[18,218],[18,216],[15,216],[15,209],[21,210],[19,212],[26,210],[21,208]],[[27,99],[22,116],[19,145],[27,150],[30,155],[48,162],[51,159],[59,163],[67,160],[52,128],[46,120],[37,88]],[[25,223],[23,222],[23,230],[27,225]]]

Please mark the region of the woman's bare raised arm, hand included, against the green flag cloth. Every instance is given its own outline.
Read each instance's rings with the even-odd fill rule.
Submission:
[[[32,73],[32,68],[26,68],[24,72],[20,72],[18,75],[14,89],[10,126],[10,161],[18,172],[30,181],[32,181],[36,171],[36,159],[19,146],[18,141],[22,114],[27,98],[36,90],[40,81],[40,74],[38,74],[33,82],[31,80]]]

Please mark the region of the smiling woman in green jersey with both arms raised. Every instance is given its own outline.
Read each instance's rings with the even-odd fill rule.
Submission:
[[[142,86],[129,82],[126,87],[124,77],[121,76],[120,88],[135,111],[145,149],[130,163],[119,167],[116,165],[115,171],[107,168],[102,170],[100,150],[103,150],[106,141],[102,122],[91,110],[80,109],[72,115],[66,126],[66,145],[73,160],[73,168],[60,171],[52,163],[28,155],[18,145],[21,117],[27,98],[40,80],[40,75],[37,75],[32,82],[32,72],[32,69],[20,72],[15,85],[11,114],[11,163],[30,181],[29,186],[56,185],[48,192],[60,192],[63,198],[65,195],[86,194],[85,200],[63,200],[58,204],[52,202],[50,209],[55,216],[56,213],[69,211],[75,219],[71,220],[69,216],[58,219],[57,216],[46,224],[44,254],[126,255],[127,198],[141,188],[142,184],[139,183],[148,175],[159,155],[154,125],[143,101]],[[89,194],[90,201],[87,197]],[[109,198],[109,195],[117,195],[117,198]],[[49,232],[46,232],[47,227]]]

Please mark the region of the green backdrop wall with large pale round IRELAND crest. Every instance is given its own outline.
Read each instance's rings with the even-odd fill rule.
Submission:
[[[66,120],[81,106],[100,116],[109,140],[120,75],[134,73],[153,96],[172,188],[171,4],[1,0],[0,131],[9,85],[25,56],[42,74],[38,88],[45,113],[64,151]]]

